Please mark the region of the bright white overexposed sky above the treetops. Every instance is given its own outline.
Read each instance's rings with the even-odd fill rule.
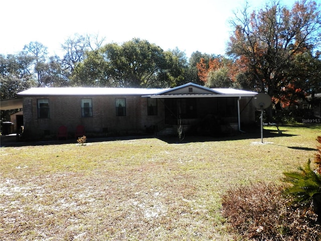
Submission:
[[[269,0],[267,0],[269,1]],[[245,0],[5,0],[0,4],[0,54],[16,54],[32,41],[61,55],[61,44],[75,33],[121,44],[140,38],[164,50],[178,47],[224,54],[233,11]],[[280,0],[292,6],[295,0]],[[316,0],[321,3],[321,0]],[[263,7],[265,0],[248,0]]]

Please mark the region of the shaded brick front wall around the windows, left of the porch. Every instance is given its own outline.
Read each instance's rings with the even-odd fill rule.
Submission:
[[[24,97],[25,132],[30,138],[53,137],[58,128],[66,126],[73,136],[77,125],[85,126],[86,134],[94,136],[144,133],[164,118],[164,105],[157,104],[157,115],[147,115],[147,99],[125,96],[126,116],[116,116],[115,98],[124,96],[48,96]],[[49,99],[49,118],[38,118],[37,99]],[[92,117],[81,116],[81,99],[92,99]]]

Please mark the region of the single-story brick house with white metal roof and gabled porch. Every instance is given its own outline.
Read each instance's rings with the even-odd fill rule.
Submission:
[[[251,101],[256,92],[207,88],[194,83],[175,88],[30,88],[23,99],[25,135],[56,136],[60,126],[69,137],[78,125],[88,136],[177,133],[215,135],[241,130],[255,122]]]

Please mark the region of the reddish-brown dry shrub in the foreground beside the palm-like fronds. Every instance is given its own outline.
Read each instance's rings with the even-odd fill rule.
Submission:
[[[321,226],[309,217],[307,202],[291,204],[284,186],[257,183],[222,195],[222,215],[244,238],[254,240],[321,240]]]

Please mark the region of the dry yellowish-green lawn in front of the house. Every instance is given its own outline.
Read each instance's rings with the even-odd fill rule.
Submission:
[[[243,135],[0,148],[0,240],[231,240],[220,195],[314,155],[320,126],[280,129],[265,145]]]

